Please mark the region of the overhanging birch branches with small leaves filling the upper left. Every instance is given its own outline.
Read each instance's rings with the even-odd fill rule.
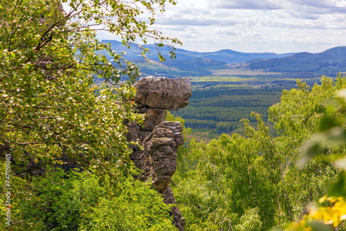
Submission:
[[[137,37],[180,42],[149,27],[165,0],[65,4],[67,13],[58,0],[0,3],[1,155],[12,153],[17,172],[31,160],[41,169],[69,160],[116,180],[131,169],[125,122],[140,120],[131,110],[139,71],[95,33],[119,35],[127,46]],[[149,21],[140,21],[145,10]],[[120,85],[125,75],[129,80]],[[107,85],[93,88],[94,77]]]

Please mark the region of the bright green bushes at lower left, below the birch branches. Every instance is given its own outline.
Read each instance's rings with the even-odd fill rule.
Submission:
[[[1,165],[1,183],[4,166]],[[133,178],[100,186],[95,174],[50,169],[24,181],[12,178],[12,230],[176,230],[158,192]],[[23,190],[26,189],[26,190]],[[1,197],[2,199],[3,197]],[[30,208],[30,209],[29,209]],[[1,220],[3,221],[3,210]],[[8,227],[1,222],[1,229]]]

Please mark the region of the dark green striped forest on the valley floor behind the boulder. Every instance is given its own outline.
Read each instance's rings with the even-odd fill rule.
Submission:
[[[231,133],[242,128],[243,118],[249,118],[255,111],[268,120],[268,107],[279,102],[282,89],[252,89],[248,87],[211,87],[196,89],[190,98],[190,105],[174,115],[185,120],[192,129],[216,129],[217,133]],[[250,118],[255,122],[255,118]]]

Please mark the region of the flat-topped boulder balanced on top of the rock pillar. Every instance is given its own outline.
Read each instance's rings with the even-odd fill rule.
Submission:
[[[189,104],[192,95],[188,78],[143,77],[136,84],[135,101],[152,109],[176,111]]]

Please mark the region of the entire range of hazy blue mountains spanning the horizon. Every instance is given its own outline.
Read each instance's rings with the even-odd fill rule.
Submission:
[[[111,44],[117,53],[125,51],[125,59],[136,63],[143,75],[162,75],[167,77],[198,77],[212,75],[212,70],[234,68],[230,64],[246,63],[252,70],[273,73],[286,73],[291,77],[334,76],[346,71],[346,46],[330,48],[322,53],[242,53],[235,50],[197,52],[176,48],[176,59],[170,59],[170,46],[158,47],[156,44],[143,45],[148,48],[147,59],[141,55],[136,44],[126,48],[120,41],[103,40]],[[166,58],[158,62],[158,50]],[[105,54],[107,55],[107,54]],[[235,65],[236,66],[236,65]]]

